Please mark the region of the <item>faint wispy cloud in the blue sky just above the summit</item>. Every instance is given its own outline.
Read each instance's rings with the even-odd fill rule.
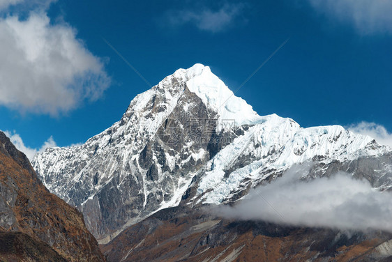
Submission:
[[[237,17],[243,12],[242,3],[225,3],[218,10],[202,8],[202,10],[181,10],[169,13],[169,22],[173,25],[195,24],[203,31],[216,33],[223,31],[227,26],[234,23]]]

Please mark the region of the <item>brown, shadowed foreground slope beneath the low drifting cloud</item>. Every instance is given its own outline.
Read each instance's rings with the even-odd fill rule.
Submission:
[[[391,261],[392,235],[222,219],[161,210],[102,247],[107,261]],[[215,259],[215,260],[214,260]]]

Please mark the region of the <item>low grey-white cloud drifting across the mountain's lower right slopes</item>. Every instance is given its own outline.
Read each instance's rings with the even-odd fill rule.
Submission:
[[[215,210],[224,217],[261,219],[295,226],[333,229],[381,229],[392,232],[392,194],[379,192],[348,174],[300,181],[301,169],[250,192],[233,208]]]

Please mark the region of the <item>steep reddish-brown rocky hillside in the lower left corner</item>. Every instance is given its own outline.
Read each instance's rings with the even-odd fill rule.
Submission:
[[[10,242],[10,250],[3,250],[4,246],[1,249],[5,258],[18,252],[28,256],[29,249],[36,254],[52,248],[48,256],[52,254],[56,258],[53,261],[105,261],[82,215],[45,188],[27,157],[17,151],[3,132],[0,132],[0,231],[23,233],[1,235],[2,241]],[[34,256],[30,259],[34,260]]]

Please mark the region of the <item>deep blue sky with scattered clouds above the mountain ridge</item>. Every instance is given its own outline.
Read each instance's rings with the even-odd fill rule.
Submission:
[[[203,63],[234,91],[289,38],[236,95],[260,115],[389,144],[390,13],[372,0],[3,0],[0,130],[31,153],[119,121],[149,86],[105,40],[153,85]]]

